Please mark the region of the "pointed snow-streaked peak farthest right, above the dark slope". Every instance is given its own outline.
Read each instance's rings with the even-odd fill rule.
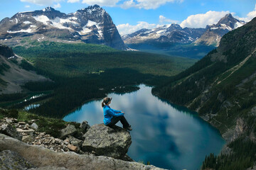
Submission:
[[[230,30],[239,28],[240,26],[245,25],[245,21],[239,21],[236,18],[233,18],[231,13],[228,13],[223,18],[218,21],[218,23],[206,26],[206,32],[196,40],[196,44],[203,45],[215,45],[220,44],[220,39],[228,33]]]

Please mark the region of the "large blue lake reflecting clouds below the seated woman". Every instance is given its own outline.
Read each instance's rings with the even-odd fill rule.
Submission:
[[[151,87],[140,85],[129,94],[109,94],[111,108],[124,111],[132,125],[128,155],[165,169],[200,169],[206,154],[219,154],[225,141],[218,130],[186,108],[161,101]],[[65,116],[65,121],[90,125],[103,123],[100,101],[85,103]],[[121,123],[117,125],[122,127]]]

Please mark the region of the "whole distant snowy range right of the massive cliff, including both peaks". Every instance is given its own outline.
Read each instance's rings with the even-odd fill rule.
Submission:
[[[181,28],[176,23],[161,26],[154,29],[142,29],[128,35],[122,35],[124,42],[129,44],[140,44],[146,42],[178,42],[182,44],[196,42],[196,44],[218,46],[220,38],[245,24],[233,18],[229,13],[218,21],[217,24],[206,26],[206,28]]]

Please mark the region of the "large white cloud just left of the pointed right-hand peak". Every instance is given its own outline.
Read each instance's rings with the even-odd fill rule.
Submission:
[[[220,18],[223,18],[225,14],[230,13],[229,11],[208,11],[207,13],[199,13],[191,15],[182,21],[181,27],[189,28],[206,28],[207,25],[218,23]]]

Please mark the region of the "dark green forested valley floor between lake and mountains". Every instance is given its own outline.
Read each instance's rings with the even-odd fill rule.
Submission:
[[[183,57],[119,51],[105,45],[85,43],[29,41],[26,46],[13,49],[16,55],[26,59],[20,67],[35,70],[52,80],[28,82],[23,89],[51,92],[25,103],[5,106],[23,108],[38,103],[40,106],[30,111],[53,118],[63,118],[82,103],[103,98],[112,91],[125,93],[137,90],[134,87],[137,84],[159,84],[196,62]],[[15,96],[23,97],[13,94],[10,98]]]

